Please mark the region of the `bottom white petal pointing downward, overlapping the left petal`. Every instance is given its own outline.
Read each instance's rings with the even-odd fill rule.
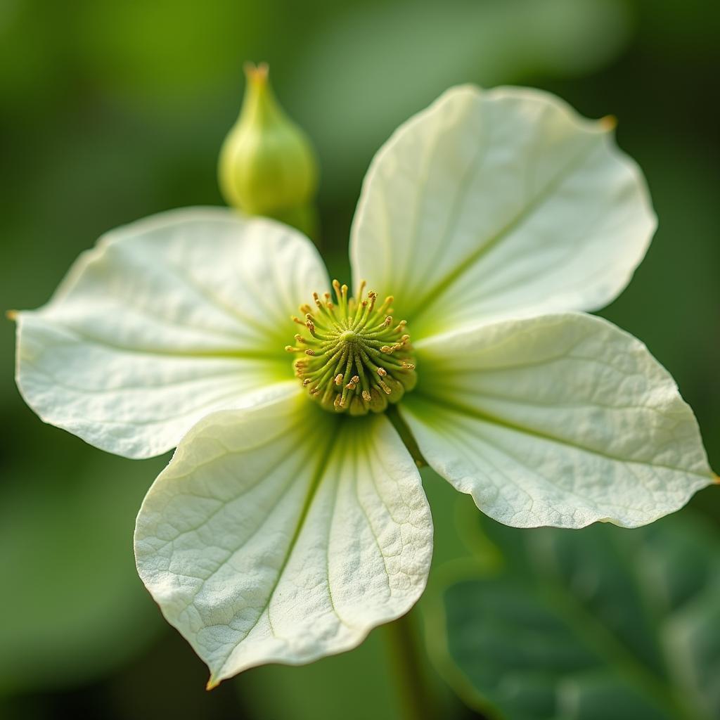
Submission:
[[[305,395],[204,418],[138,516],[140,577],[212,673],[351,649],[426,584],[432,521],[384,415]]]

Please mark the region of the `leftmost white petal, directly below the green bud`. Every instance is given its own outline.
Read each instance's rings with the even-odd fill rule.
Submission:
[[[18,387],[99,448],[160,454],[207,413],[294,392],[290,315],[327,287],[310,240],[277,222],[221,208],[140,220],[19,313]]]

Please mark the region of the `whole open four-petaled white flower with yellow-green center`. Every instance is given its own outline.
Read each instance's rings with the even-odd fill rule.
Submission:
[[[292,228],[208,208],[108,233],[19,313],[44,420],[128,457],[177,446],[135,551],[210,686],[413,606],[433,530],[401,436],[517,527],[639,526],[713,481],[671,377],[582,312],[655,228],[611,131],[544,92],[451,89],[372,161],[354,293]]]

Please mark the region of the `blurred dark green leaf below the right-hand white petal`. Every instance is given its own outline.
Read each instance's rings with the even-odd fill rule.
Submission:
[[[444,586],[432,648],[472,706],[513,720],[720,715],[720,536],[691,513],[641,530],[518,531]],[[441,619],[442,618],[442,619]]]

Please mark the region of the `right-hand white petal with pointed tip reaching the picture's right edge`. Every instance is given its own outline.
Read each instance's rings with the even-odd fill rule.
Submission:
[[[418,370],[401,412],[420,451],[507,525],[644,525],[713,482],[670,375],[600,318],[436,336],[420,344]]]

